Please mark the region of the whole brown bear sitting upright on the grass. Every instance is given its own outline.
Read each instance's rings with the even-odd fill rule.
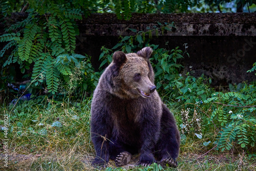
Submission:
[[[180,135],[172,113],[161,101],[150,63],[153,50],[115,52],[101,75],[91,108],[93,165],[115,160],[117,166],[140,153],[139,164],[160,161],[177,166]]]

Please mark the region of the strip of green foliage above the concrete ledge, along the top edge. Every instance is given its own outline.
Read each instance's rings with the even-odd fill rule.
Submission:
[[[4,16],[10,15],[11,12],[20,12],[22,9],[29,5],[30,9],[37,9],[39,15],[44,15],[48,12],[55,13],[57,9],[60,11],[65,11],[63,15],[68,18],[76,18],[76,14],[83,12],[87,17],[94,12],[115,12],[119,19],[130,19],[132,13],[173,13],[173,12],[215,12],[219,9],[228,11],[228,7],[225,7],[226,3],[230,1],[222,0],[202,0],[202,1],[190,1],[190,0],[179,0],[179,1],[154,1],[154,0],[124,0],[124,1],[87,1],[87,0],[77,0],[77,1],[67,1],[59,0],[52,1],[15,1],[15,0],[4,0],[0,3],[0,9]],[[239,0],[235,4],[240,7],[247,6],[251,7],[253,4],[256,4],[252,0]],[[208,11],[205,11],[202,6],[208,6]],[[220,7],[221,6],[221,7]],[[57,14],[57,13],[55,13]],[[49,21],[50,22],[50,21]]]

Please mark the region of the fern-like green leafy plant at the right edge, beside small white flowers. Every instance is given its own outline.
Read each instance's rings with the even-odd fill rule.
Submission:
[[[214,121],[222,127],[218,148],[231,149],[235,144],[242,148],[253,147],[256,136],[256,89],[245,84],[238,92],[216,92],[204,101],[211,103],[212,113],[208,124]]]

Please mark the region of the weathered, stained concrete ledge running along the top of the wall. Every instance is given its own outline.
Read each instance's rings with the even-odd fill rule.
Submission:
[[[157,22],[175,25],[172,31],[165,30],[159,36],[256,35],[256,13],[133,14],[129,21],[118,20],[114,14],[92,14],[79,25],[83,35],[125,36],[135,34],[129,28],[138,31],[159,28]]]

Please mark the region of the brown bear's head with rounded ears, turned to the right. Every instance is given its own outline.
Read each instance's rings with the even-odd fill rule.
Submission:
[[[150,98],[156,89],[154,72],[149,60],[152,52],[150,47],[145,47],[137,53],[114,53],[113,68],[116,77],[113,78],[113,83],[119,87],[115,94],[123,98]]]

